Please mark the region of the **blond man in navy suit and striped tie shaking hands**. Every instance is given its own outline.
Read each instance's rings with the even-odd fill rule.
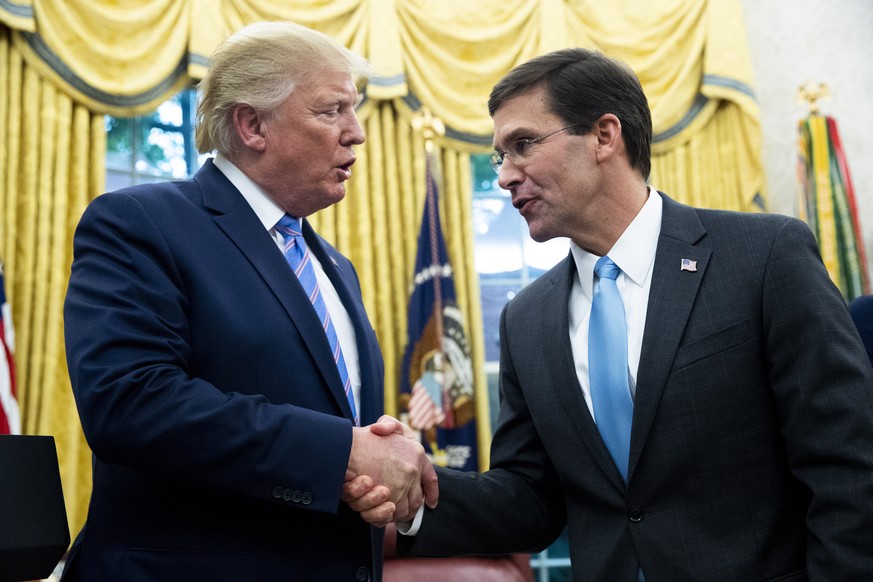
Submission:
[[[418,443],[366,425],[383,364],[351,263],[306,217],[343,199],[367,63],[290,23],[214,53],[191,180],[98,197],[76,232],[70,378],[94,455],[65,581],[380,580],[382,530],[436,501]]]

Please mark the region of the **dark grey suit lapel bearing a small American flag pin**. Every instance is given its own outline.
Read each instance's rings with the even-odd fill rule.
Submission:
[[[664,211],[652,270],[652,285],[637,373],[628,479],[639,461],[673,366],[711,249],[698,244],[706,230],[697,212],[661,193]],[[696,270],[682,269],[682,260]]]

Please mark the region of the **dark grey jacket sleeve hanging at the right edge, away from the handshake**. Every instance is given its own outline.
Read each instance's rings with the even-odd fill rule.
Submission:
[[[810,580],[873,578],[873,370],[809,228],[774,238],[764,340],[792,474],[811,492]]]

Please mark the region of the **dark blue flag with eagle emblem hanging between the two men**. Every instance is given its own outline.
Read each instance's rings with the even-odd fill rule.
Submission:
[[[473,364],[464,319],[455,302],[438,196],[428,160],[400,380],[400,417],[419,431],[434,464],[477,471]]]

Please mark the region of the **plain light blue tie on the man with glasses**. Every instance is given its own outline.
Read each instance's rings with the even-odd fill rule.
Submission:
[[[621,272],[612,259],[594,265],[600,283],[591,302],[588,327],[588,379],[597,430],[627,483],[630,430],[634,413],[627,376],[627,323],[615,278]]]

